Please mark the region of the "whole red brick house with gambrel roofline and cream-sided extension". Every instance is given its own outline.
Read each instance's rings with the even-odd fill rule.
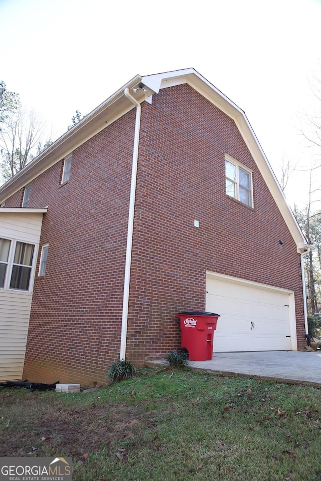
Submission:
[[[306,344],[306,240],[244,112],[194,69],[130,80],[0,203],[2,379],[103,382],[178,348],[181,311],[221,315],[216,352]]]

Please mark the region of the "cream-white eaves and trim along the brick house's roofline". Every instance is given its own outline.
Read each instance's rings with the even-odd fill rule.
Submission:
[[[140,83],[143,84],[144,89],[135,89],[136,91],[134,92],[132,89]],[[234,120],[295,240],[297,251],[304,251],[307,246],[306,239],[298,226],[293,212],[287,204],[275,174],[265,157],[262,147],[244,111],[193,68],[146,76],[136,75],[133,77],[126,85],[86,115],[86,117],[56,140],[56,142],[30,162],[23,170],[0,187],[0,203],[40,173],[47,170],[51,165],[60,161],[62,158],[66,158],[75,148],[114,120],[121,117],[125,112],[133,109],[133,104],[124,94],[125,88],[130,90],[131,95],[138,102],[151,102],[152,95],[157,94],[160,89],[184,83],[189,84]]]

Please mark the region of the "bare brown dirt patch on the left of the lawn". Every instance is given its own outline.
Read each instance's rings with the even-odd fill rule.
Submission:
[[[81,459],[102,446],[108,451],[117,449],[119,441],[134,445],[141,423],[146,426],[147,421],[152,426],[154,422],[151,413],[141,406],[138,409],[117,403],[83,407],[81,402],[70,406],[55,393],[48,403],[42,402],[42,394],[21,391],[25,393],[17,395],[6,389],[0,396],[0,456],[64,455]],[[15,418],[11,419],[13,413]]]

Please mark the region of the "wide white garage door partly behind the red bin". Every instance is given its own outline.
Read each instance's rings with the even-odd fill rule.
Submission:
[[[207,274],[206,311],[220,314],[214,352],[296,350],[294,294]]]

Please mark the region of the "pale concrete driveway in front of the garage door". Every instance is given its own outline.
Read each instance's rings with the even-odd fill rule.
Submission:
[[[321,384],[321,352],[220,352],[213,354],[212,361],[190,361],[190,366],[211,371]]]

